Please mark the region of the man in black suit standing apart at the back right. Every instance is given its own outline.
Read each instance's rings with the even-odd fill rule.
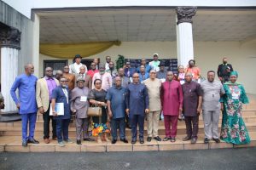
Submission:
[[[229,82],[230,81],[230,72],[233,71],[232,65],[228,64],[228,59],[223,58],[223,64],[218,65],[218,79],[220,82]]]

